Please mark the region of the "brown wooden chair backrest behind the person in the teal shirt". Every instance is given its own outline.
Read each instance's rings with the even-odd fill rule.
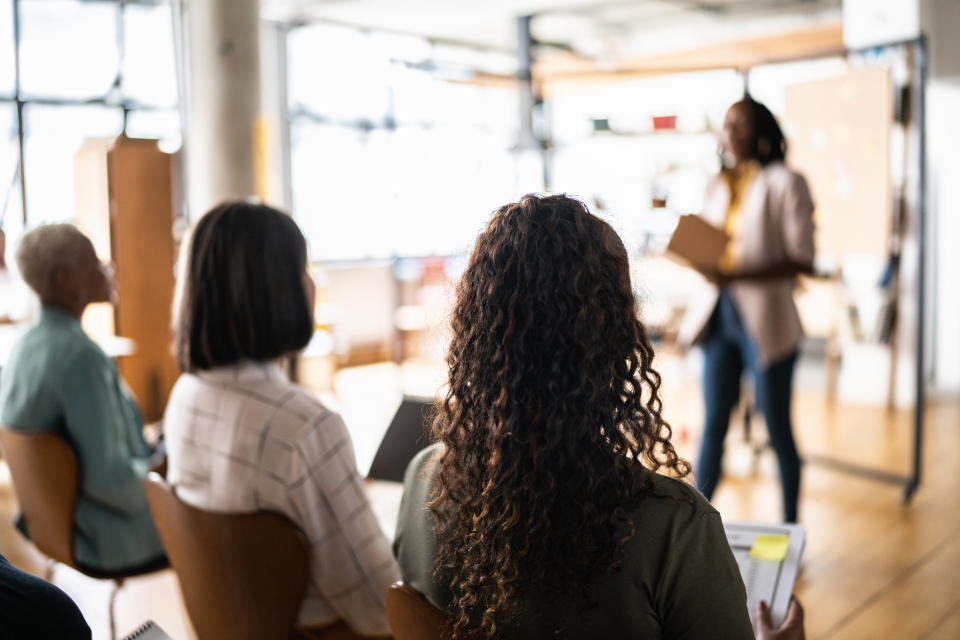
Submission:
[[[51,432],[22,432],[0,426],[13,489],[30,540],[45,555],[76,566],[73,516],[77,506],[77,457]]]

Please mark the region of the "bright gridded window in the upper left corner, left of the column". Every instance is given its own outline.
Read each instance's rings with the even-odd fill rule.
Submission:
[[[179,147],[172,25],[164,0],[0,0],[8,252],[25,227],[74,217],[73,157],[84,140],[126,133]]]

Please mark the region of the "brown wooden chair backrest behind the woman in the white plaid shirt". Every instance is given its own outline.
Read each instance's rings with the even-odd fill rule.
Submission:
[[[156,473],[146,484],[200,640],[288,638],[310,572],[310,546],[300,528],[278,513],[198,509]]]

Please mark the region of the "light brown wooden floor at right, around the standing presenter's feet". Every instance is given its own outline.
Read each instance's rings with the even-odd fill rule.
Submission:
[[[801,450],[905,471],[910,416],[814,410],[795,425]],[[859,452],[859,455],[855,455]],[[771,519],[779,485],[771,454],[728,473],[714,502],[726,519]],[[807,547],[796,593],[807,637],[960,638],[960,404],[931,403],[924,478],[909,505],[899,486],[804,466]],[[764,464],[767,463],[767,464]]]

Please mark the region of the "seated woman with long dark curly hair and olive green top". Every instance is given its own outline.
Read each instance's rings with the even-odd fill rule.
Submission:
[[[452,329],[394,543],[450,635],[753,638],[720,516],[681,480],[616,232],[562,195],[502,207]]]

